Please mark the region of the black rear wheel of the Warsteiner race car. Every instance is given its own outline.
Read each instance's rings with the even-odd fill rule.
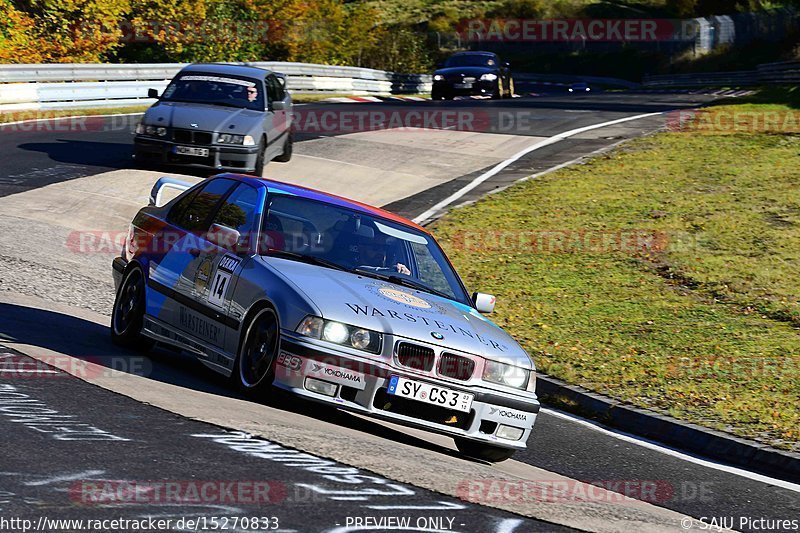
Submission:
[[[111,311],[111,342],[124,348],[149,350],[155,341],[142,335],[145,312],[145,278],[142,269],[125,273]]]

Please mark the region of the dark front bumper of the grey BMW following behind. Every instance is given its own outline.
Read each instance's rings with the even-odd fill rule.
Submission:
[[[176,154],[175,147],[179,145],[180,143],[144,135],[137,135],[133,141],[136,161],[141,163],[213,168],[232,172],[252,172],[256,168],[258,146],[193,146],[208,150],[208,157],[199,157]]]

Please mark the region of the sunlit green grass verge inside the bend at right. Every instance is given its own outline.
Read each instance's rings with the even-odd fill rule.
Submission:
[[[797,134],[662,133],[457,209],[433,230],[467,284],[497,294],[496,321],[543,372],[800,449],[798,154]],[[655,238],[553,248],[548,230]]]

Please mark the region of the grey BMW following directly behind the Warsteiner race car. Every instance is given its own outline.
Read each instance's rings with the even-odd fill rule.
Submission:
[[[292,98],[283,75],[256,67],[183,68],[136,127],[139,164],[229,170],[261,176],[292,157]]]

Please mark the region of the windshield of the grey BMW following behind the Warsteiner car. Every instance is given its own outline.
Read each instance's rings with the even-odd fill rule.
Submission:
[[[264,91],[256,79],[187,73],[167,86],[161,100],[264,110]]]

